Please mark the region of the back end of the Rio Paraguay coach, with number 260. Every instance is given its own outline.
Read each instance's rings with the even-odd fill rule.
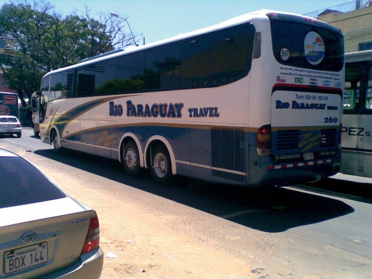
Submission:
[[[268,16],[274,55],[269,67],[276,71],[267,75],[274,81],[270,125],[257,131],[258,156],[250,148],[250,185],[291,185],[332,176],[341,156],[342,34],[308,18]],[[267,92],[257,102],[263,94]]]

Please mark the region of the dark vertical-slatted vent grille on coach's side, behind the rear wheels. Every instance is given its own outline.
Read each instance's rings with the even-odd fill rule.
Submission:
[[[212,167],[245,172],[246,150],[244,130],[212,127]],[[212,175],[228,180],[245,182],[245,176],[223,170],[212,169]]]

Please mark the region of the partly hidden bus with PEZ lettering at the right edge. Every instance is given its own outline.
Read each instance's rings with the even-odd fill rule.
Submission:
[[[372,177],[372,50],[345,54],[343,107],[340,171]]]

